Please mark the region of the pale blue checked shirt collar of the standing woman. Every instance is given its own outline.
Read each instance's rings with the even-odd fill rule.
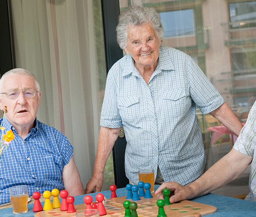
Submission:
[[[128,74],[133,74],[139,77],[139,73],[136,70],[136,67],[134,65],[134,60],[131,54],[126,54],[124,58],[126,58],[126,61],[124,65],[123,76],[126,76]],[[172,62],[172,57],[169,54],[166,47],[164,46],[160,46],[156,70],[175,70],[174,64]]]

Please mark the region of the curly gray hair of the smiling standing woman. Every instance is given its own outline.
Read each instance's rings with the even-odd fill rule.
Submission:
[[[162,40],[164,28],[160,16],[154,8],[143,8],[138,5],[131,5],[119,16],[116,27],[117,43],[121,49],[127,46],[127,31],[129,26],[140,26],[143,23],[152,23],[157,37]]]

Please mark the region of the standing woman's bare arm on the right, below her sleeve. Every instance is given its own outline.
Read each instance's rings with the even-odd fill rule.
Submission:
[[[220,121],[226,128],[232,131],[236,136],[239,136],[243,125],[238,120],[234,112],[229,108],[228,104],[224,102],[218,109],[209,113]]]

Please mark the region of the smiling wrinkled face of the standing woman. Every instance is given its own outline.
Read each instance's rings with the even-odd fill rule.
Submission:
[[[157,37],[152,23],[127,28],[127,46],[124,50],[141,67],[156,67],[160,44],[161,40]]]

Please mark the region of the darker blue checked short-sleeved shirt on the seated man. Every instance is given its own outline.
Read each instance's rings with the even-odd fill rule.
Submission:
[[[0,119],[2,122],[3,118]],[[23,140],[4,119],[4,133],[12,129],[15,138],[0,157],[0,204],[10,202],[11,186],[28,186],[29,196],[35,191],[44,193],[54,188],[64,189],[63,167],[71,159],[73,147],[55,128],[38,120],[35,123],[36,127]]]

